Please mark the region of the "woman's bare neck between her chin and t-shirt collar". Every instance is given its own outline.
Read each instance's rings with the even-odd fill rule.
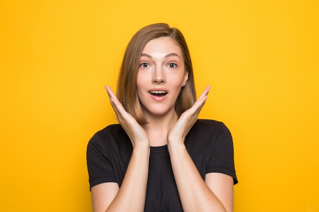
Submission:
[[[144,129],[149,137],[150,146],[164,146],[167,144],[167,132],[177,122],[177,114],[166,114],[163,116],[147,117],[147,124]]]

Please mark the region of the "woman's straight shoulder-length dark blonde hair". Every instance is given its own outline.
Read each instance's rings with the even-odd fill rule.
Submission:
[[[136,81],[140,66],[140,57],[146,44],[155,38],[170,37],[181,48],[184,59],[185,71],[188,72],[188,81],[182,87],[175,104],[178,117],[187,109],[191,108],[196,101],[193,66],[187,43],[182,33],[166,23],[156,23],[140,29],[128,43],[122,65],[117,87],[117,97],[124,109],[131,114],[139,124],[146,124],[139,102]]]

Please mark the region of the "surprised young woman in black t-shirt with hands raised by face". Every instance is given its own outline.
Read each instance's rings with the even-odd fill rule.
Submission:
[[[196,101],[178,29],[140,29],[126,48],[117,97],[105,87],[119,124],[88,144],[94,212],[233,211],[231,134],[223,123],[197,119],[209,86]]]

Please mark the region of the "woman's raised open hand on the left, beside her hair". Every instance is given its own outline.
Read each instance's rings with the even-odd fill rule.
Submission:
[[[133,116],[126,112],[123,105],[120,103],[108,85],[105,86],[105,89],[107,89],[110,102],[117,115],[117,119],[130,138],[133,148],[135,148],[137,145],[148,145],[149,147],[149,138],[144,128]]]

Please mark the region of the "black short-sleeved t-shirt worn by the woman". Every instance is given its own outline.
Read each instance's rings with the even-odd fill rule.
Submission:
[[[206,173],[219,172],[233,177],[234,184],[238,182],[232,137],[223,123],[198,119],[184,143],[203,179]],[[107,182],[121,187],[131,154],[132,144],[120,125],[97,132],[87,148],[90,188]],[[183,211],[167,145],[150,148],[144,211]]]

